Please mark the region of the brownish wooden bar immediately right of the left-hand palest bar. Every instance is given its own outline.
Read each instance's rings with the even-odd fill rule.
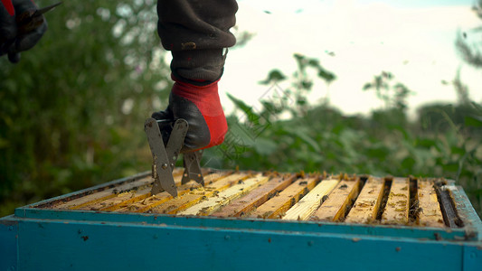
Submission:
[[[232,201],[221,210],[214,212],[213,216],[242,217],[274,197],[279,192],[283,191],[289,184],[294,182],[296,178],[296,174],[288,174],[282,177],[272,178],[269,182],[261,185],[256,190],[236,201]]]

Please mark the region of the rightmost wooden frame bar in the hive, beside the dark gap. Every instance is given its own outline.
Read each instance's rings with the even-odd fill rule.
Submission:
[[[433,182],[418,181],[419,224],[424,227],[444,228],[442,212]]]

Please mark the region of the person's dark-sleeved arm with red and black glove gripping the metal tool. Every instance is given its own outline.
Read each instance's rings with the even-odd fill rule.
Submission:
[[[172,51],[175,84],[165,111],[156,119],[184,118],[189,129],[183,152],[220,145],[228,126],[218,95],[225,48],[236,39],[234,0],[158,0],[157,31],[165,50]]]

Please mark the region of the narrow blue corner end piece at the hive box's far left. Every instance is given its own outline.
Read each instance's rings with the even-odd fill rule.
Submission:
[[[0,219],[0,270],[16,270],[18,222],[14,216]]]

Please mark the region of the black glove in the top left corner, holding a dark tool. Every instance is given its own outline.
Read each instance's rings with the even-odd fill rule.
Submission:
[[[20,52],[27,51],[40,41],[47,31],[47,22],[28,33],[19,28],[17,18],[21,14],[33,14],[38,7],[33,0],[0,0],[0,56],[8,54],[12,63],[20,61]]]

